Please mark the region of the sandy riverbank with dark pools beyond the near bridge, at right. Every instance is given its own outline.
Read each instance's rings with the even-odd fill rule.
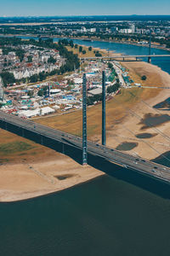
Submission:
[[[133,75],[133,78],[137,79],[137,76],[142,75],[150,77],[144,82],[144,85],[170,87],[170,75],[163,72],[159,67],[144,62],[126,62],[126,64],[122,64],[128,67],[129,73]],[[133,108],[127,108],[126,117],[122,122],[115,125],[114,131],[108,131],[107,145],[116,148],[123,142],[138,143],[136,148],[127,152],[129,154],[137,154],[148,160],[167,152],[170,148],[170,122],[146,129],[142,129],[144,125],[140,124],[140,122],[146,113],[151,113],[154,116],[156,114],[169,115],[168,110],[152,108],[157,103],[166,100],[168,96],[170,96],[170,89],[144,89],[144,96],[141,96],[140,101]],[[135,135],[143,132],[155,134],[156,136],[147,139],[135,137]]]

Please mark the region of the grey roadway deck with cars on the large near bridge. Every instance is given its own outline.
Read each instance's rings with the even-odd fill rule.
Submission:
[[[40,125],[32,122],[29,119],[20,119],[12,114],[0,112],[0,123],[11,124],[25,129],[26,131],[33,131],[42,137],[48,137],[59,143],[71,145],[71,147],[82,148],[82,138],[73,136],[69,133],[55,130],[45,125]],[[170,182],[170,168],[161,166],[149,160],[144,160],[138,156],[125,154],[113,148],[103,146],[98,143],[88,141],[88,154],[97,155],[105,160],[116,163],[119,166],[124,166],[138,172],[159,178],[161,180]]]

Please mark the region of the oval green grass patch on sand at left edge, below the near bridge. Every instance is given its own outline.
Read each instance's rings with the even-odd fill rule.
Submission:
[[[3,143],[0,145],[1,154],[14,154],[21,151],[26,151],[34,148],[29,143],[24,142],[14,142],[14,143]]]

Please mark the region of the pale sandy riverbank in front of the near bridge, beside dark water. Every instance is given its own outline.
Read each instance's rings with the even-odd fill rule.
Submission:
[[[64,154],[54,154],[53,160],[0,166],[0,201],[47,195],[104,174],[91,166],[81,166]]]

